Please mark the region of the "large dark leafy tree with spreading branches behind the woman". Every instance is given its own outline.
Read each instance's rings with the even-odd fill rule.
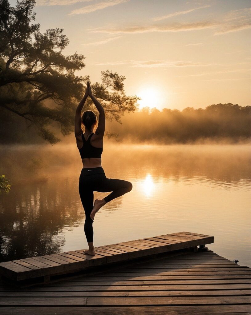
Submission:
[[[32,23],[35,3],[23,0],[10,7],[8,0],[0,0],[0,106],[23,117],[38,135],[54,144],[60,139],[50,126],[60,127],[63,136],[73,131],[84,81],[90,77],[75,75],[85,67],[84,55],[62,54],[69,43],[63,29],[48,29],[42,34],[40,24]],[[125,95],[124,76],[109,70],[101,73],[102,83],[92,85],[93,95],[100,99],[107,118],[121,123],[124,112],[136,110],[139,98]],[[86,104],[96,111],[90,99]]]

